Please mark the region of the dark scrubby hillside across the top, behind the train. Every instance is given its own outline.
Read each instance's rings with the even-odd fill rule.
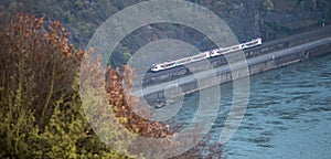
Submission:
[[[2,0],[3,23],[15,12],[28,12],[46,20],[60,20],[70,32],[71,42],[85,47],[96,29],[110,15],[142,0]],[[331,22],[329,0],[190,0],[220,15],[239,41],[261,36],[264,41],[322,26]],[[212,43],[199,32],[177,24],[151,24],[126,38],[114,53],[111,64],[120,66],[142,45],[153,40],[179,39],[201,50]],[[125,55],[126,53],[126,55]]]

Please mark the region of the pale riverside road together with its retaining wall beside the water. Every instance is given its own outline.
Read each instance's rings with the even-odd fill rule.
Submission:
[[[143,97],[150,105],[164,106],[167,105],[167,102],[163,92],[169,88],[169,86],[181,87],[182,92],[178,92],[180,94],[172,94],[173,98],[175,98],[175,96],[190,94],[202,88],[245,77],[247,76],[247,66],[249,75],[254,75],[277,67],[282,67],[291,63],[307,61],[329,52],[331,52],[331,38],[325,38],[248,59],[247,65],[246,63],[238,62],[238,64],[234,64],[235,67],[232,67],[232,70],[227,65],[221,66],[211,71],[199,73],[199,75],[189,75],[167,83],[149,86],[142,91],[137,91],[134,94],[139,97]],[[216,73],[216,76],[214,76],[214,73]],[[200,76],[200,82],[203,81],[203,83],[207,85],[199,86],[195,76]]]

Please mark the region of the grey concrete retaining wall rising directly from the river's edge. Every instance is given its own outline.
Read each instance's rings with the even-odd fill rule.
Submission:
[[[266,72],[273,68],[286,66],[291,63],[307,61],[309,59],[330,53],[331,52],[331,43],[319,45],[316,47],[311,47],[303,51],[295,51],[290,54],[279,56],[279,57],[271,57],[266,59],[260,63],[248,65],[249,67],[249,75],[254,75],[257,73]],[[215,84],[222,84],[226,82],[231,82],[236,78],[241,78],[246,76],[245,68],[238,68],[233,72],[229,70],[223,70],[222,72],[216,73],[216,78],[203,78],[200,80],[201,83],[207,84],[204,87],[209,87]],[[182,92],[175,91],[175,87],[181,87]],[[199,88],[203,88],[202,86],[199,87],[197,82],[195,80],[175,86],[170,86],[167,88],[168,94],[171,94],[172,97],[179,96],[181,94],[190,94],[192,92],[199,91]],[[143,98],[150,104],[154,106],[164,106],[166,98],[164,98],[164,91],[153,92],[151,94],[147,94]]]

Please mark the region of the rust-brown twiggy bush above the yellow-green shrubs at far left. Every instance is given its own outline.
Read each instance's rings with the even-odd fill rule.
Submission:
[[[9,29],[0,33],[0,98],[8,103],[6,94],[18,89],[19,83],[29,85],[31,89],[23,91],[33,96],[30,108],[42,127],[53,112],[53,103],[70,98],[84,54],[70,44],[68,35],[58,21],[19,13]]]

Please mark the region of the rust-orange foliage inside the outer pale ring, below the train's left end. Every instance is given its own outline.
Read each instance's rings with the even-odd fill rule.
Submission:
[[[107,100],[113,107],[117,118],[126,118],[126,120],[121,121],[121,124],[127,129],[135,134],[139,134],[140,136],[150,138],[174,135],[169,125],[164,125],[159,121],[151,121],[135,114],[134,109],[137,109],[136,106],[138,104],[138,99],[130,95],[134,71],[129,66],[124,66],[124,73],[120,73],[119,68],[111,71],[110,67],[108,67],[106,70],[106,74],[108,74],[105,86]],[[139,110],[148,112],[146,109]]]

